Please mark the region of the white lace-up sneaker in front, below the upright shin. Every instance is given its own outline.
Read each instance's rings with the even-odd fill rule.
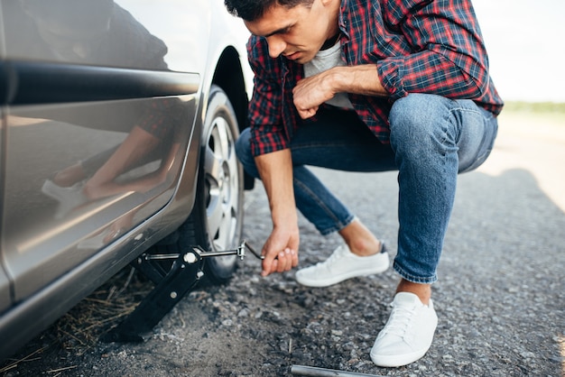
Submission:
[[[392,305],[391,317],[371,349],[371,360],[378,366],[402,366],[420,359],[430,349],[438,326],[431,300],[426,306],[415,294],[398,292]]]

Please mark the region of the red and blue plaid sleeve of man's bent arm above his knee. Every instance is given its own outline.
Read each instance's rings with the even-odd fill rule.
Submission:
[[[481,97],[488,84],[488,62],[470,1],[426,3],[412,1],[412,8],[403,6],[399,14],[394,2],[385,2],[385,18],[403,33],[411,51],[377,62],[384,88],[393,99],[409,93]]]

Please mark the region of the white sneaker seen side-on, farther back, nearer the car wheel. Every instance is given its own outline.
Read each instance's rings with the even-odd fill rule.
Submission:
[[[296,272],[296,281],[307,287],[328,287],[340,281],[381,273],[388,268],[388,253],[370,256],[351,253],[347,244],[339,246],[325,262]]]

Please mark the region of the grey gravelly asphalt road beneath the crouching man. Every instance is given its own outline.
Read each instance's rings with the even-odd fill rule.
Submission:
[[[395,173],[316,171],[393,257]],[[270,230],[260,185],[246,194],[245,209],[245,238],[259,247]],[[301,264],[327,257],[338,237],[300,221]],[[142,345],[96,344],[78,354],[70,342],[4,375],[273,376],[301,364],[390,376],[563,376],[564,229],[565,122],[503,113],[489,160],[458,179],[433,286],[440,322],[420,361],[386,369],[368,356],[388,317],[398,280],[392,269],[312,290],[293,272],[260,278],[250,257],[229,285],[190,294]]]

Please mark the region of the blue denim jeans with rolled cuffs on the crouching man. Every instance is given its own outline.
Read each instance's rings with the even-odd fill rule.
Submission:
[[[380,143],[352,111],[320,109],[317,122],[292,138],[296,207],[321,234],[354,219],[307,165],[347,171],[398,170],[398,253],[394,270],[405,280],[437,280],[457,175],[476,169],[493,148],[496,118],[471,100],[412,94],[394,102],[390,145]],[[259,178],[245,130],[236,142],[245,171]]]

